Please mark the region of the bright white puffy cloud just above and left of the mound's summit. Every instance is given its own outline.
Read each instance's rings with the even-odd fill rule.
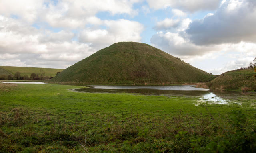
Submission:
[[[104,20],[106,29],[84,29],[79,40],[84,43],[92,43],[92,46],[100,49],[120,41],[140,42],[140,33],[143,25],[130,20]]]

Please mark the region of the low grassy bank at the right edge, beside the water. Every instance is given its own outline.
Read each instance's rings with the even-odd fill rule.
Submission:
[[[225,72],[206,83],[210,88],[240,89],[249,87],[256,90],[254,69],[233,70]]]

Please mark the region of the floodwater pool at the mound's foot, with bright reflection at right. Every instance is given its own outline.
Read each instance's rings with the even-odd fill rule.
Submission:
[[[130,94],[145,94],[145,95],[166,95],[166,96],[196,96],[199,99],[195,105],[208,104],[230,104],[230,100],[234,104],[241,105],[242,97],[248,98],[253,102],[256,99],[254,92],[238,92],[238,91],[217,91],[203,88],[196,88],[192,85],[183,86],[103,86],[94,85],[87,86],[88,88],[74,89],[76,92],[86,93],[130,93]]]

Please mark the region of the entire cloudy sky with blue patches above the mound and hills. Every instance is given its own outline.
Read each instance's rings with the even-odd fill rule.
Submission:
[[[0,65],[67,68],[119,41],[213,74],[256,57],[256,0],[0,0]]]

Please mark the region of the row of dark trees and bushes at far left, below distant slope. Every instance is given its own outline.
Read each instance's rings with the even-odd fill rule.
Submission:
[[[57,72],[56,75],[58,75]],[[52,76],[46,76],[44,69],[40,69],[40,73],[31,73],[28,75],[21,75],[19,71],[17,71],[14,75],[0,75],[0,80],[48,80],[53,78]]]

